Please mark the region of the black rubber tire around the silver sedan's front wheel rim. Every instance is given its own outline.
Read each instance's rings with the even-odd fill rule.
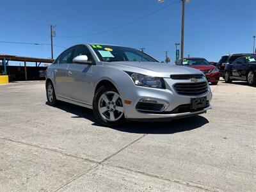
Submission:
[[[111,93],[117,93],[119,95],[119,93],[116,90],[116,88],[109,87],[109,86],[101,86],[96,91],[95,96],[93,98],[93,113],[94,113],[94,116],[95,116],[97,122],[99,122],[100,124],[102,124],[102,125],[104,125],[106,127],[116,127],[118,125],[124,124],[125,123],[124,111],[120,112],[120,111],[117,111],[116,109],[114,109],[114,111],[109,111],[112,107],[109,109],[109,106],[108,106],[107,102],[102,100],[103,95],[106,95],[107,93],[110,93],[110,94]],[[108,96],[108,97],[111,97],[111,95]],[[111,100],[113,100],[113,99],[111,99]],[[110,101],[110,99],[109,99],[109,101]],[[116,104],[116,102],[118,102],[118,105]],[[116,102],[115,102],[116,108],[118,106],[120,106],[120,107],[122,107],[124,109],[123,104],[122,104],[122,100],[120,99],[120,97],[116,100]],[[100,110],[99,109],[100,108],[100,104],[103,105],[103,103],[104,103],[104,105],[108,106],[108,110],[106,112],[104,112],[104,113],[100,113],[100,111],[99,111]],[[104,107],[106,107],[106,106],[104,106]],[[112,120],[111,121],[110,119],[108,119],[108,117],[106,117],[106,116],[109,115],[109,118],[110,118],[110,116],[111,116],[110,113],[114,113],[115,117],[118,116],[118,115],[119,116],[118,116],[118,118],[116,118],[116,120],[114,120],[114,121]]]

